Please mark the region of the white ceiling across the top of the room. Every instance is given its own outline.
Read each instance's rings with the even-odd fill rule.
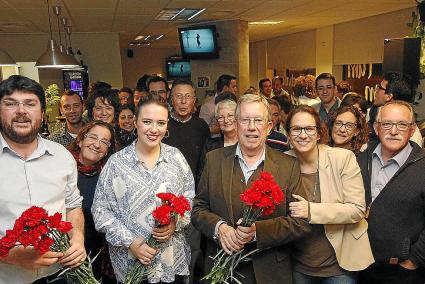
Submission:
[[[250,41],[310,30],[416,5],[415,0],[49,0],[60,5],[73,32],[118,32],[127,45],[137,35],[165,34],[152,46],[177,46],[177,26],[240,19],[284,21],[249,26]],[[207,8],[192,21],[156,21],[163,8]],[[53,15],[53,14],[52,14]],[[52,17],[57,30],[56,17]],[[0,33],[47,33],[46,0],[0,0]]]

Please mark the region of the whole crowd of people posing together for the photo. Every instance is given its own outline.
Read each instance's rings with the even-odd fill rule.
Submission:
[[[198,105],[190,80],[99,81],[86,99],[65,90],[65,121],[42,137],[43,88],[2,81],[0,237],[33,205],[73,229],[63,253],[13,248],[0,283],[49,283],[98,252],[102,283],[123,283],[137,262],[153,268],[143,283],[202,283],[222,248],[252,252],[234,272],[241,283],[423,284],[425,151],[408,80],[385,74],[371,105],[329,73],[258,88],[239,93],[223,74]],[[245,227],[239,195],[262,171],[285,200]],[[158,193],[191,210],[155,226]]]

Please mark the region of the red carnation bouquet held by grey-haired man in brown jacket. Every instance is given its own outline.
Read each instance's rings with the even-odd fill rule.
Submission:
[[[273,175],[263,171],[260,174],[260,178],[255,180],[251,187],[240,195],[240,199],[246,205],[240,226],[250,227],[261,215],[271,215],[276,205],[279,205],[284,199],[284,194],[274,180]],[[236,274],[241,277],[243,276],[235,271],[235,269],[239,263],[249,261],[249,256],[257,251],[253,250],[249,253],[244,253],[242,249],[232,255],[228,255],[221,249],[214,257],[211,257],[214,260],[214,265],[202,280],[210,280],[212,284],[241,283],[236,278]]]

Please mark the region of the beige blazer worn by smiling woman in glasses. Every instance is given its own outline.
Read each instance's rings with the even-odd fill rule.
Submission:
[[[363,179],[354,153],[319,145],[319,180],[321,202],[309,203],[310,223],[324,224],[339,266],[348,271],[365,269],[374,259],[364,218]]]

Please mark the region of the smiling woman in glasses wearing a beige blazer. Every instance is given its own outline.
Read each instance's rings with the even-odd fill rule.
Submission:
[[[326,126],[310,106],[292,110],[286,130],[293,146],[289,154],[299,161],[308,197],[294,195],[289,210],[292,217],[308,220],[313,228],[294,244],[294,283],[356,283],[356,271],[373,263],[356,157],[326,145]]]

